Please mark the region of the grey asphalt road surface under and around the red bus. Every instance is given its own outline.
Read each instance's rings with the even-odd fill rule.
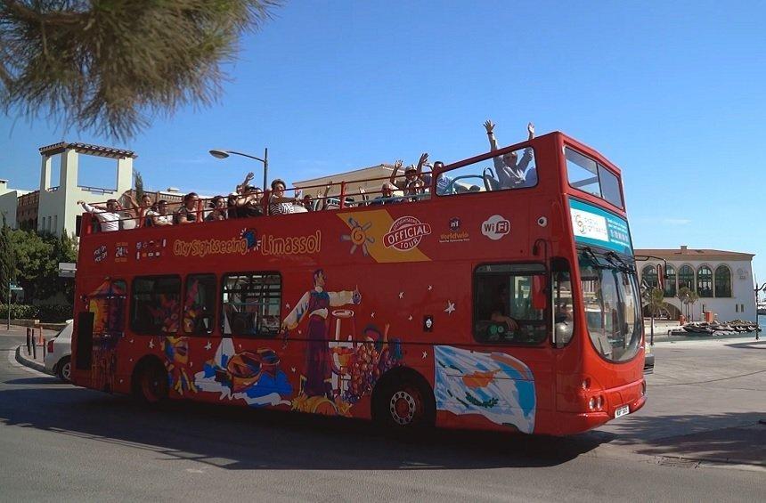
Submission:
[[[20,343],[0,329],[2,501],[766,500],[757,459],[695,460],[742,456],[726,432],[754,432],[763,448],[763,345],[656,346],[647,407],[589,434],[396,439],[365,422],[147,409],[20,367],[9,352]],[[697,450],[673,459],[689,435]]]

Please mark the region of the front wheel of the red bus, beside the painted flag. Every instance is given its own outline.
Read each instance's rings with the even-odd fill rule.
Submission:
[[[428,384],[420,380],[424,379],[410,376],[390,379],[375,394],[373,419],[395,429],[433,426],[436,402]]]

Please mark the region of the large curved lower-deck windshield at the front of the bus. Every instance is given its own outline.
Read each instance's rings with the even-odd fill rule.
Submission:
[[[578,250],[588,334],[607,361],[628,361],[641,343],[640,301],[632,264],[614,252]]]

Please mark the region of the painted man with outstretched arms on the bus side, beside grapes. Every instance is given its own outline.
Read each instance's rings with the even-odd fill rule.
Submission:
[[[303,393],[306,396],[325,396],[333,399],[330,377],[330,337],[328,317],[330,307],[347,304],[360,304],[362,295],[359,290],[328,292],[325,290],[327,277],[322,269],[314,271],[314,288],[300,298],[287,318],[282,321],[282,330],[295,329],[301,321],[308,318],[306,329],[306,381]]]

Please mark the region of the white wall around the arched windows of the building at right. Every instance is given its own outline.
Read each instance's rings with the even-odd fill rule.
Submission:
[[[684,260],[684,261],[667,261],[669,265],[672,265],[676,272],[676,280],[678,280],[678,271],[682,265],[690,265],[695,272],[695,285],[697,284],[697,269],[700,265],[707,265],[715,272],[715,269],[719,265],[727,265],[731,270],[731,297],[700,297],[699,300],[691,306],[692,317],[694,320],[702,320],[703,318],[703,306],[705,311],[712,311],[717,314],[718,320],[750,320],[755,321],[757,319],[757,313],[755,312],[755,294],[753,284],[753,271],[750,260],[739,261],[721,261],[721,260]],[[638,262],[636,265],[639,269],[639,277],[642,278],[642,272],[647,265],[656,266],[656,261]],[[715,286],[715,280],[713,276],[713,288]],[[678,288],[676,288],[676,292]],[[685,312],[685,306],[680,303],[677,297],[665,297],[664,301],[668,304],[672,304],[679,308],[680,312]],[[737,306],[741,309],[744,306],[744,311],[737,311]]]

